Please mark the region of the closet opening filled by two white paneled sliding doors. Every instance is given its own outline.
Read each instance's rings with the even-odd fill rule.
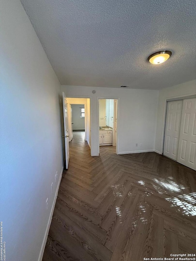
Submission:
[[[167,102],[163,154],[196,170],[196,98]]]

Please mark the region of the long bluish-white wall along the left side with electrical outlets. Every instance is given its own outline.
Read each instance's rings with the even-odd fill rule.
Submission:
[[[36,261],[63,166],[61,85],[21,2],[0,10],[3,241],[6,260]]]

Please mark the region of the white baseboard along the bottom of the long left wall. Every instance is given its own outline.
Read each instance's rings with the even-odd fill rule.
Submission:
[[[58,195],[58,189],[59,189],[59,186],[60,186],[60,183],[61,183],[64,164],[65,164],[65,162],[63,163],[63,167],[62,167],[61,174],[60,174],[60,177],[59,177],[58,185],[57,185],[56,192],[55,192],[55,198],[54,198],[54,201],[53,201],[53,204],[52,204],[50,217],[49,217],[46,232],[45,232],[45,235],[44,235],[44,238],[43,238],[43,243],[42,243],[42,247],[41,247],[41,250],[40,250],[40,255],[39,255],[38,261],[42,261],[43,252],[44,252],[44,248],[46,246],[46,240],[47,240],[48,232],[49,232],[49,229],[50,229],[50,224],[51,224],[51,221],[52,221],[52,215],[53,215],[53,212],[54,212],[54,209],[55,209],[55,203],[56,203],[56,199],[57,199],[57,195]]]

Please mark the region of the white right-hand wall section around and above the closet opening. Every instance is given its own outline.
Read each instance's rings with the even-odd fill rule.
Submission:
[[[164,121],[166,114],[166,99],[176,98],[179,96],[189,96],[196,94],[196,80],[189,81],[183,84],[178,84],[173,87],[164,88],[159,91],[159,103],[157,110],[156,121],[156,140],[155,151],[162,153],[163,138],[164,138]]]

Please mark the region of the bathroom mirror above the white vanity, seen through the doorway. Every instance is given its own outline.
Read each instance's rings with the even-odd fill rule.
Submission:
[[[114,126],[114,100],[99,99],[99,126],[111,127]]]

